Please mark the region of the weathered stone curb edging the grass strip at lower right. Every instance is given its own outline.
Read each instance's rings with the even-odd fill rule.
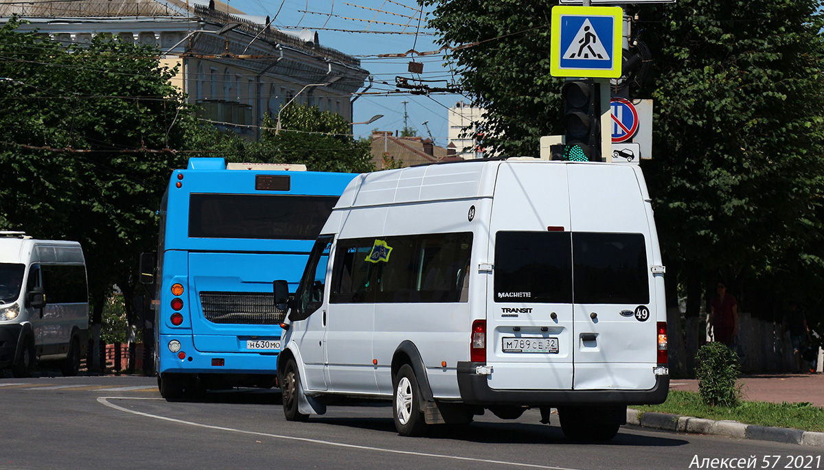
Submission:
[[[724,435],[735,439],[770,440],[785,444],[824,447],[824,432],[747,425],[738,421],[713,421],[692,416],[626,410],[626,424],[690,434]]]

